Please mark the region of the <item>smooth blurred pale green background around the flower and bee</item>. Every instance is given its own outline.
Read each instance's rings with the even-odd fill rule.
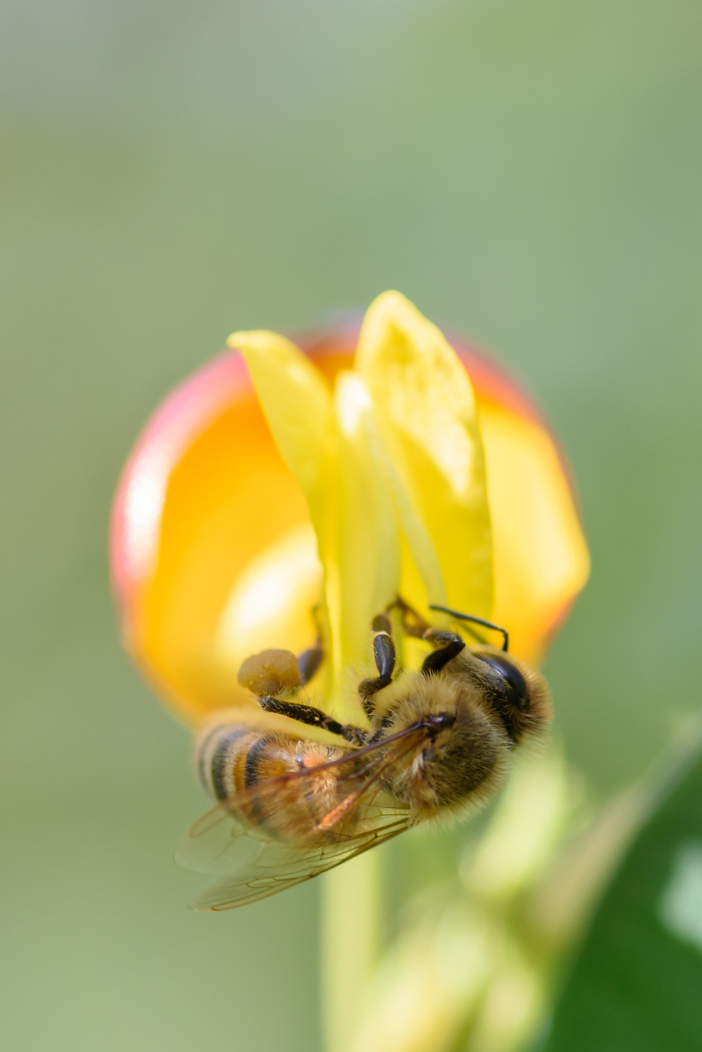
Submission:
[[[8,1052],[320,1047],[315,883],[187,912],[185,731],[119,647],[105,534],[234,328],[396,287],[522,377],[594,573],[548,662],[596,793],[699,700],[697,0],[3,0]]]

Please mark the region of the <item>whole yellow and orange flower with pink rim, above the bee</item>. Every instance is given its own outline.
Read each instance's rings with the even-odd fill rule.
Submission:
[[[370,619],[398,593],[492,618],[538,663],[588,555],[529,400],[385,292],[360,332],[299,347],[236,332],[165,399],[118,487],[112,571],[128,650],[197,727],[254,704],[242,660],[305,649],[316,620],[329,660],[315,683],[342,712]]]

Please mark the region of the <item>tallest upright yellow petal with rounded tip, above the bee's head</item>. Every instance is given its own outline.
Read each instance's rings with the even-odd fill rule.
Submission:
[[[446,603],[466,613],[493,611],[489,509],[480,428],[470,381],[440,330],[399,292],[370,305],[356,369],[386,428],[386,446],[430,542],[403,530],[423,585],[403,567],[403,595]],[[401,512],[400,512],[401,513]],[[441,580],[427,572],[436,559]],[[406,561],[405,561],[406,562]]]

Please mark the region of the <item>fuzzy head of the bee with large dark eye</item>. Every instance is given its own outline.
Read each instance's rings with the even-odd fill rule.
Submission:
[[[473,677],[485,700],[500,716],[507,734],[519,744],[525,734],[538,733],[550,719],[548,687],[538,672],[523,662],[490,648],[470,650]]]

